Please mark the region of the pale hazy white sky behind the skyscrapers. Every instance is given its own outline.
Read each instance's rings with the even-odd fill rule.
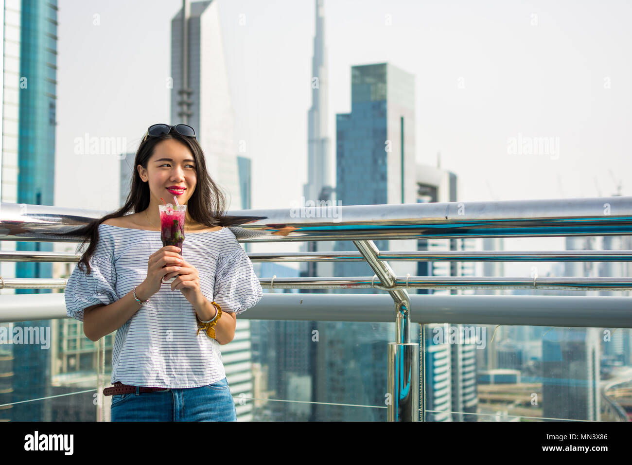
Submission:
[[[314,2],[216,1],[253,208],[289,208],[307,180]],[[75,155],[73,141],[125,137],[135,151],[150,124],[169,122],[179,8],[178,0],[59,1],[56,205],[118,206],[116,156]],[[596,197],[617,183],[631,195],[631,23],[623,0],[325,0],[332,147],[335,115],[351,109],[351,66],[389,62],[415,75],[417,161],[436,164],[440,151],[441,167],[461,178],[459,200]],[[552,138],[550,153],[511,153],[511,138],[542,137]],[[298,250],[253,251],[279,247]],[[506,241],[560,247],[562,239]],[[506,264],[509,275],[530,266]]]

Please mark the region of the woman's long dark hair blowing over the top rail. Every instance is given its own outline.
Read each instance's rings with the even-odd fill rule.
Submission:
[[[131,176],[130,194],[127,196],[125,205],[114,213],[109,213],[103,218],[90,221],[88,225],[82,226],[80,229],[64,233],[66,235],[71,234],[84,238],[78,249],[82,249],[85,244],[89,242],[88,249],[83,252],[82,257],[77,263],[77,266],[83,264],[85,268],[87,268],[88,275],[90,274],[90,257],[92,257],[92,253],[99,242],[99,225],[109,220],[109,218],[119,218],[130,211],[138,213],[149,207],[149,183],[143,182],[140,178],[138,165],[142,165],[143,168],[147,170],[147,163],[154,154],[155,146],[166,139],[176,139],[185,144],[195,159],[197,183],[195,190],[193,190],[193,195],[191,195],[191,198],[186,202],[186,211],[188,211],[193,221],[197,221],[206,226],[231,226],[234,223],[243,223],[243,220],[239,218],[227,217],[225,215],[226,197],[224,197],[222,191],[210,177],[206,169],[204,152],[197,139],[183,136],[173,129],[168,134],[161,134],[154,137],[148,136],[140,143],[140,146],[138,146]]]

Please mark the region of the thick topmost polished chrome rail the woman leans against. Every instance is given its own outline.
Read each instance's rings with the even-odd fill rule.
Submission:
[[[106,211],[0,204],[0,239],[59,240]],[[242,242],[628,235],[632,197],[231,210]]]

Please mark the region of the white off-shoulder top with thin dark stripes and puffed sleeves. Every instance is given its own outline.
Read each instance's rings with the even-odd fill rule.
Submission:
[[[147,277],[149,256],[161,249],[159,231],[99,225],[88,275],[78,266],[68,278],[66,313],[83,321],[83,309],[111,304]],[[241,312],[263,297],[246,251],[229,228],[185,235],[182,257],[197,268],[200,289],[224,312]],[[198,332],[195,309],[168,284],[116,331],[112,383],[165,388],[200,387],[226,373],[221,345]]]

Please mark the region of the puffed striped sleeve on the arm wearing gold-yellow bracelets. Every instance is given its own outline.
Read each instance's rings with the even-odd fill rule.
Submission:
[[[222,312],[236,314],[255,306],[264,296],[259,278],[243,247],[238,246],[219,263],[213,294],[213,300],[222,307]]]

